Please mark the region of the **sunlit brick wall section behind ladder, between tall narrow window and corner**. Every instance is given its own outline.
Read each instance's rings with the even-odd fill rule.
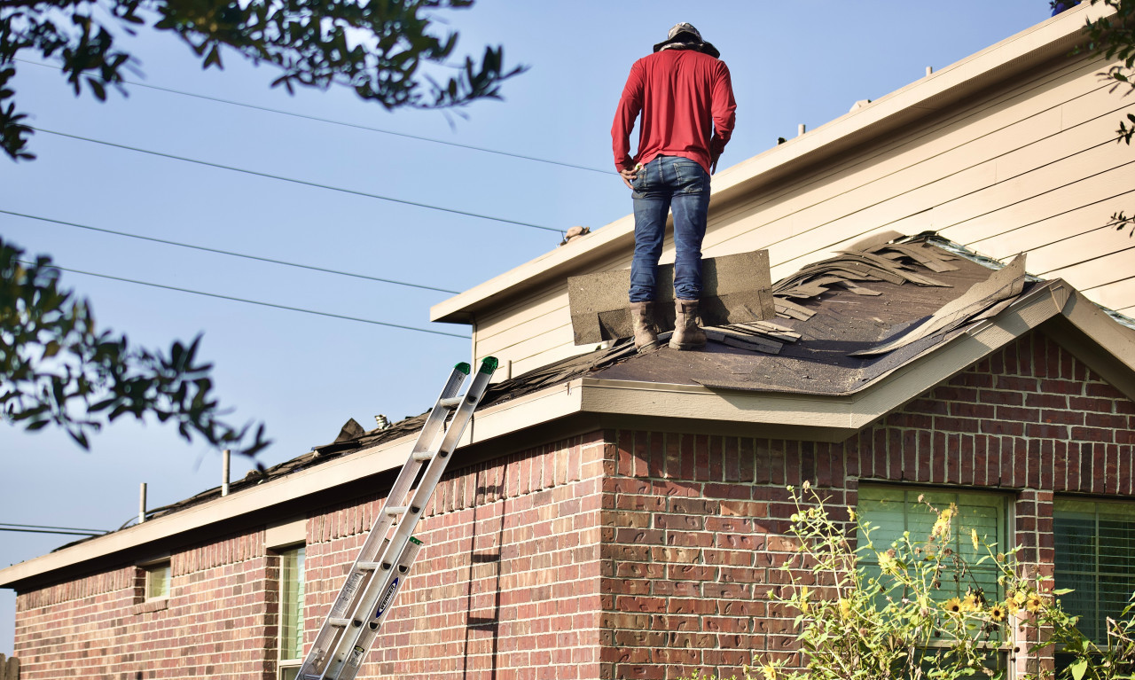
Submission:
[[[361,677],[596,678],[603,452],[597,433],[447,471]],[[309,643],[380,507],[345,504],[309,522]]]

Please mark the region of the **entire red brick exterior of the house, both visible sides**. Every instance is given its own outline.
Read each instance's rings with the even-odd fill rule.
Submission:
[[[792,554],[785,485],[832,505],[860,480],[1009,489],[1016,539],[1053,559],[1054,494],[1130,495],[1135,404],[1027,336],[857,436],[825,444],[611,430],[451,470],[364,678],[663,679],[796,660],[768,606]],[[380,497],[309,512],[308,640]],[[23,677],[272,678],[278,559],[253,531],[175,551],[165,607],[133,565],[20,593]]]

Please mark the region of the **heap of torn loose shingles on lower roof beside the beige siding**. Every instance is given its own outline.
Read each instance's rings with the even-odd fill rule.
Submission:
[[[918,274],[914,265],[931,271],[952,271],[958,268],[949,262],[952,259],[953,255],[922,242],[876,243],[861,250],[840,251],[838,257],[809,265],[773,285],[776,316],[807,321],[815,312],[794,301],[816,297],[834,286],[856,295],[880,295],[878,291],[858,285],[863,282],[950,287]]]

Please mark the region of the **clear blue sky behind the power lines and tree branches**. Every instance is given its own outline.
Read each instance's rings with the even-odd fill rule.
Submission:
[[[696,9],[691,9],[695,7]],[[143,82],[600,169],[630,65],[676,22],[697,26],[729,65],[737,132],[722,167],[815,128],[861,99],[877,99],[1049,16],[1045,0],[478,0],[446,15],[459,51],[503,44],[530,69],[504,101],[468,118],[386,112],[347,90],[270,90],[270,68],[233,54],[202,72],[168,35],[132,42]],[[34,58],[24,54],[25,58]],[[58,72],[19,65],[15,83],[31,124],[61,133],[394,196],[557,229],[592,229],[630,212],[619,178],[454,146],[129,87],[107,103],[75,99]],[[207,168],[51,134],[39,160],[0,159],[0,209],[208,247],[463,291],[553,247],[557,234],[276,179]],[[448,295],[253,263],[0,213],[0,237],[61,267],[362,317],[446,333],[429,307]],[[262,420],[274,464],[335,438],[354,418],[373,427],[422,412],[468,341],[65,275],[104,328],[168,347],[199,333],[216,389],[237,421]],[[114,529],[150,505],[219,484],[220,456],[175,429],[120,421],[78,450],[57,431],[0,425],[0,522]],[[250,465],[234,461],[233,477]],[[0,566],[50,552],[65,536],[0,534]],[[15,595],[0,590],[0,653],[12,650]]]

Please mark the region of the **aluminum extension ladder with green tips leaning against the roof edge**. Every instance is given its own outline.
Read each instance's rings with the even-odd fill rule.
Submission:
[[[412,536],[414,527],[496,368],[495,358],[481,360],[481,368],[463,396],[457,392],[471,368],[468,363],[453,368],[311,652],[300,666],[296,677],[301,680],[352,680],[359,674],[378,629],[393,608],[398,588],[410,573],[410,565],[422,548],[421,542]],[[423,467],[426,471],[414,485]]]

